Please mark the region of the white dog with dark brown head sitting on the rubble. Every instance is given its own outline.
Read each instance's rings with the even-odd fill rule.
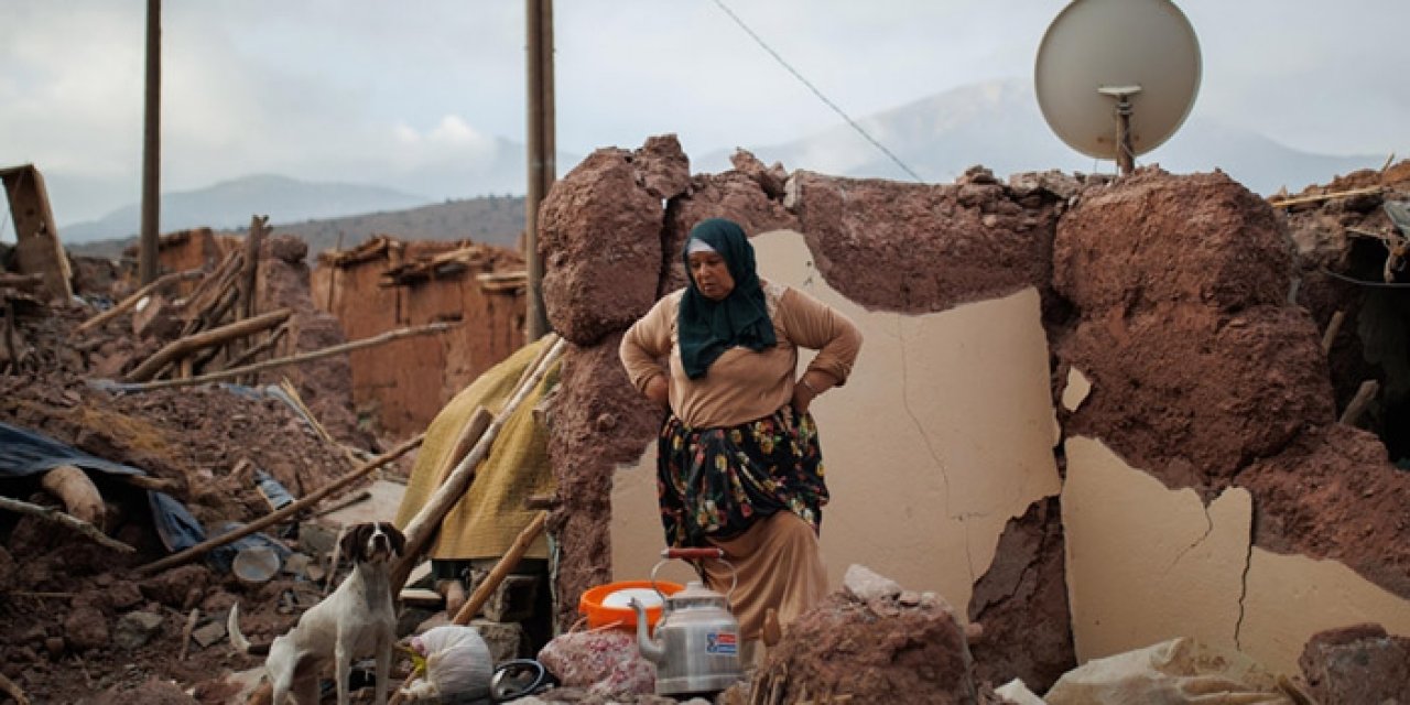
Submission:
[[[389,574],[406,548],[406,537],[391,523],[364,523],[348,529],[338,548],[352,558],[352,574],[269,644],[251,646],[240,633],[240,605],[230,609],[231,646],[247,654],[269,654],[265,671],[274,705],[285,705],[290,692],[299,705],[317,705],[319,678],[330,666],[337,678],[338,705],[347,705],[352,661],[367,656],[376,657],[376,704],[386,704],[396,642],[396,601]]]

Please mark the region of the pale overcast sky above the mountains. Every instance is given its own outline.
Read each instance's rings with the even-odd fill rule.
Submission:
[[[1031,79],[1043,30],[1066,4],[725,3],[853,117]],[[1410,1],[1176,4],[1203,49],[1194,116],[1310,152],[1410,157]],[[525,141],[523,1],[164,6],[164,190],[257,172],[369,182],[378,165],[474,159],[495,138]],[[698,155],[839,123],[715,0],[554,6],[561,151],[675,133]],[[34,162],[62,182],[51,183],[61,224],[140,197],[144,13],[142,0],[0,0],[0,166]],[[11,228],[0,224],[0,238],[13,241]]]

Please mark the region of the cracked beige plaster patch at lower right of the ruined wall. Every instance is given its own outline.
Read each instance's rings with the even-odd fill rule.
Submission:
[[[1253,505],[1228,488],[1207,506],[1167,489],[1100,440],[1069,437],[1062,491],[1077,660],[1176,636],[1297,674],[1307,640],[1376,622],[1410,633],[1410,602],[1337,561],[1252,546]]]

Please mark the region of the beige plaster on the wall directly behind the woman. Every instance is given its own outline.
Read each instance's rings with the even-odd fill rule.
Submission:
[[[860,563],[963,611],[1010,519],[1059,492],[1038,292],[924,316],[873,313],[818,275],[798,233],[753,244],[764,278],[838,307],[864,336],[849,384],[814,406],[832,492],[829,578],[840,584]],[[661,548],[654,461],[653,444],[615,474],[615,580],[647,577]]]

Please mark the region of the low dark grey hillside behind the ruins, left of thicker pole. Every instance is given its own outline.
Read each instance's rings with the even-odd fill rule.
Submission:
[[[407,210],[305,220],[292,224],[271,219],[275,233],[295,234],[309,243],[310,264],[319,252],[336,248],[340,235],[344,250],[355,247],[374,234],[389,234],[405,240],[468,238],[475,243],[519,247],[523,223],[523,196],[482,196]],[[243,234],[244,228],[224,228],[221,231]],[[66,247],[76,255],[117,258],[121,257],[124,248],[135,241],[137,238],[127,237],[96,243],[66,243]]]

